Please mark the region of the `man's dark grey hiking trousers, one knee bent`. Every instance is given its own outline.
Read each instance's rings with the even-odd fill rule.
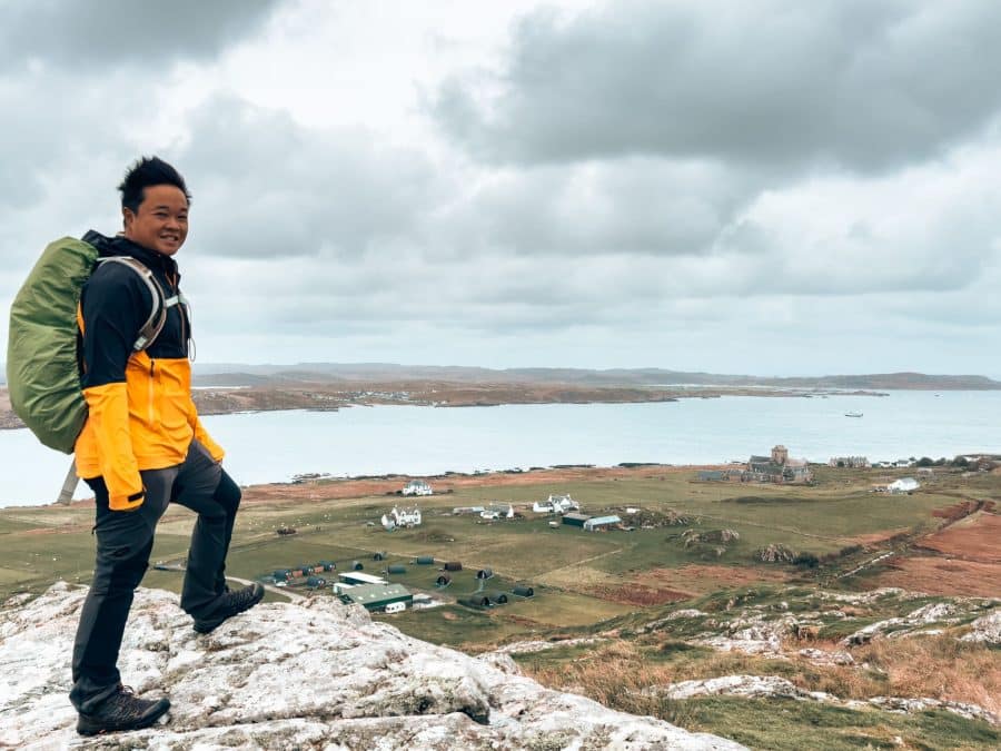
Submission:
[[[93,581],[73,642],[73,688],[78,712],[92,712],[116,692],[118,652],[132,594],[149,566],[157,522],[168,503],[198,514],[191,532],[181,607],[195,617],[212,614],[225,592],[226,554],[240,505],[240,488],[197,441],[182,464],[140,472],[146,498],[135,511],[111,511],[102,477],[87,480],[97,504]]]

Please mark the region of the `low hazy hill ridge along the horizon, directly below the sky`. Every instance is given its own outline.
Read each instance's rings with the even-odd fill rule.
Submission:
[[[296,365],[197,365],[196,385],[258,386],[278,382],[329,383],[442,381],[449,383],[561,383],[579,386],[761,386],[772,388],[844,388],[904,391],[997,391],[1001,382],[979,375],[883,373],[819,377],[762,377],[661,368],[507,368],[395,365],[392,363],[298,363]]]

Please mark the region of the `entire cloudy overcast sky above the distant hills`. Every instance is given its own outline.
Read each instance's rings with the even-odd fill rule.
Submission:
[[[1001,3],[0,0],[0,344],[194,194],[202,363],[1001,377]]]

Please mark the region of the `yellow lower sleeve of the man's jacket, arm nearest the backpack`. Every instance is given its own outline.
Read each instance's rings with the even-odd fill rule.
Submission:
[[[109,383],[83,389],[112,511],[132,511],[143,501],[142,477],[129,434],[126,388],[125,383]]]

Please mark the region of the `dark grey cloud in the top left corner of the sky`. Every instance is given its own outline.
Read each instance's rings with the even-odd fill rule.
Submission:
[[[209,58],[257,30],[277,6],[278,0],[7,2],[0,72],[32,63],[79,71]]]

